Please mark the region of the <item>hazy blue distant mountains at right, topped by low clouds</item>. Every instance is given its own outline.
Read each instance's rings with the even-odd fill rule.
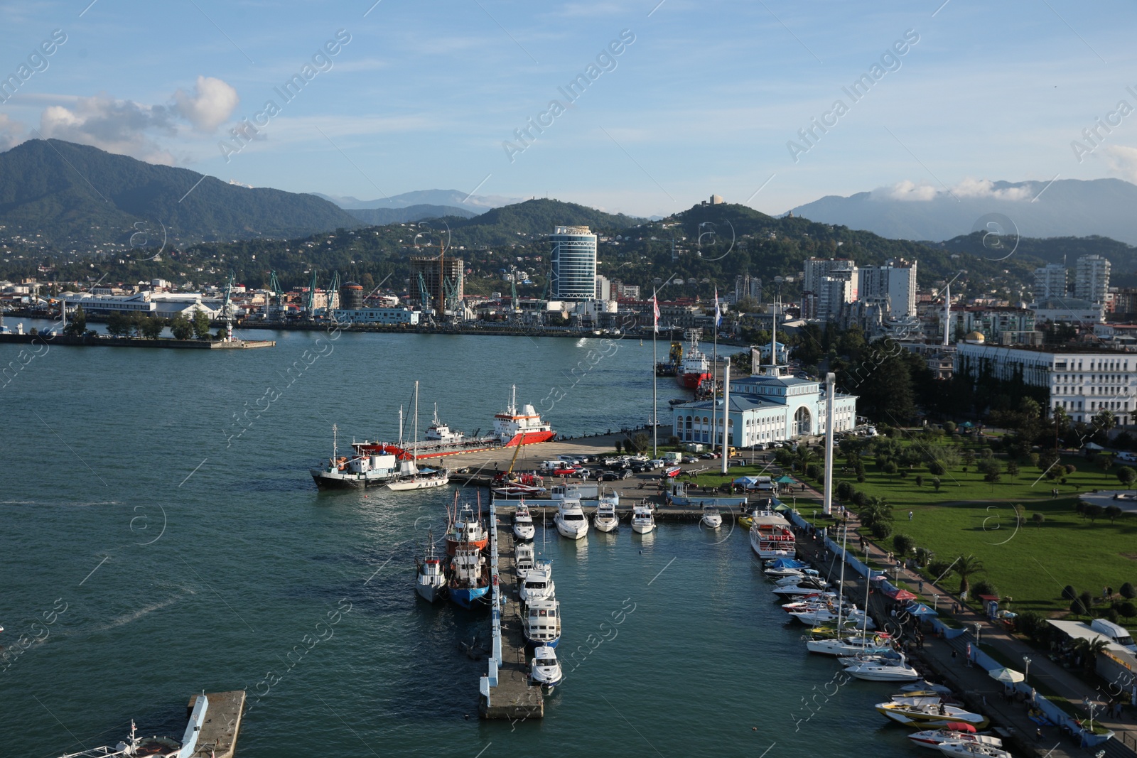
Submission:
[[[894,240],[940,241],[984,231],[1022,238],[1102,235],[1137,244],[1134,208],[1137,185],[1099,178],[969,181],[946,191],[905,182],[849,197],[827,195],[792,213]]]

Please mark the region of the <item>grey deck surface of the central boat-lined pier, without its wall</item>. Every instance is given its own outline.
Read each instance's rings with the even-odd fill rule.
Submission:
[[[529,683],[511,528],[508,520],[497,524],[497,539],[490,541],[491,549],[497,551],[501,598],[501,663],[497,669],[497,685],[490,688],[488,698],[482,698],[481,715],[482,718],[525,720],[545,717],[545,697],[540,686]]]

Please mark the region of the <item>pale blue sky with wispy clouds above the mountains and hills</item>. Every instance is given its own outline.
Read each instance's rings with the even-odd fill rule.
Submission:
[[[1117,0],[6,2],[0,150],[640,216],[1137,181],[1135,27]]]

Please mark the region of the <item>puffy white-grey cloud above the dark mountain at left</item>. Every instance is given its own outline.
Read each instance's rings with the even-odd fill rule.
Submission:
[[[174,157],[158,147],[148,132],[176,134],[164,106],[113,100],[106,94],[80,98],[73,108],[51,106],[40,116],[44,138],[56,138],[133,156],[155,164],[174,165]]]

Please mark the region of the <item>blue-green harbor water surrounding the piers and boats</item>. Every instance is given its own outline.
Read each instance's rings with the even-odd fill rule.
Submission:
[[[562,434],[642,425],[650,342],[250,336],[277,347],[0,345],[19,366],[0,388],[0,756],[114,744],[132,718],[177,738],[192,693],[232,689],[241,758],[912,755],[872,708],[895,685],[806,655],[746,535],[690,524],[579,543],[539,526],[566,680],[542,720],[482,722],[487,613],[413,590],[454,489],[321,493],[308,475],[332,424],[341,451],[395,440],[415,380],[420,433],[434,402],[484,432],[511,384]],[[664,423],[680,395],[661,380]]]

